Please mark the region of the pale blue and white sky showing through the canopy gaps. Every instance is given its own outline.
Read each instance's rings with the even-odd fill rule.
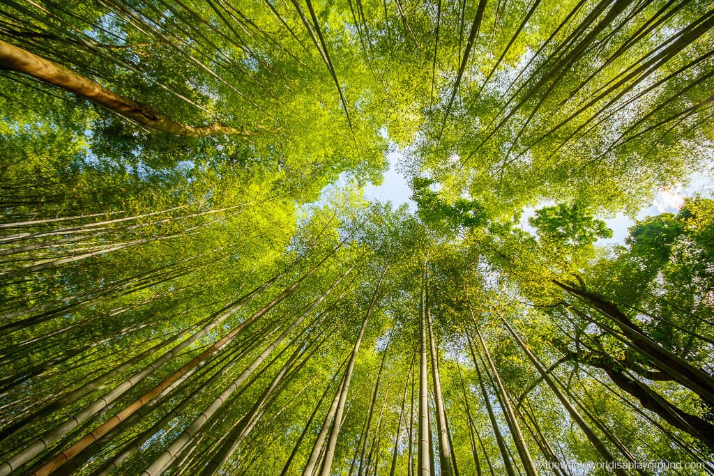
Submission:
[[[416,203],[411,197],[411,188],[404,176],[396,170],[396,164],[403,159],[400,151],[392,151],[388,153],[387,160],[389,161],[389,169],[384,174],[384,181],[380,186],[374,186],[368,183],[364,188],[364,198],[369,201],[379,201],[385,203],[391,201],[392,206],[397,208],[402,203],[407,203],[409,211],[416,211]],[[638,213],[637,219],[641,220],[647,216],[658,215],[660,213],[677,213],[679,207],[684,203],[686,197],[695,195],[696,193],[705,193],[711,191],[713,184],[710,178],[703,173],[694,173],[691,176],[691,181],[688,186],[676,186],[670,190],[660,190],[653,199],[650,206],[643,208]],[[552,205],[552,203],[543,203],[536,207],[528,207],[523,209],[521,216],[521,228],[523,230],[534,233],[533,227],[528,225],[528,218],[535,214],[537,208]],[[608,239],[598,240],[598,245],[616,245],[624,244],[625,238],[628,236],[628,228],[633,226],[635,221],[624,213],[618,213],[614,218],[606,218],[605,223],[608,228],[613,231],[613,237]]]

